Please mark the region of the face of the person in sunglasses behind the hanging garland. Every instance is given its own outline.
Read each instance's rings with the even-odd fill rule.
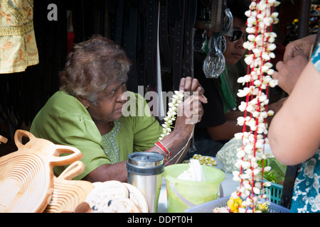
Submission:
[[[235,65],[238,60],[245,54],[246,49],[243,48],[243,43],[245,42],[245,28],[247,26],[240,18],[234,16],[233,17],[233,29],[239,29],[242,31],[242,37],[235,41],[231,42],[227,35],[225,35],[225,39],[227,40],[227,48],[223,55],[225,56],[225,63],[228,65]]]

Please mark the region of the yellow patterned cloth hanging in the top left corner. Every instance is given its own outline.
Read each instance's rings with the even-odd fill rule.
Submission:
[[[33,0],[0,0],[0,73],[23,72],[39,62]]]

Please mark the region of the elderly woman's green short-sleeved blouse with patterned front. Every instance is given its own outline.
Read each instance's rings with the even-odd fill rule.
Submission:
[[[146,106],[139,94],[136,109]],[[162,128],[149,108],[144,108],[144,116],[122,116],[114,121],[114,128],[101,135],[87,109],[74,96],[66,92],[56,92],[38,112],[31,124],[31,133],[38,138],[55,144],[78,148],[84,155],[81,161],[85,171],[75,177],[82,179],[100,165],[127,160],[132,152],[144,151],[156,143]],[[55,175],[60,175],[65,167],[55,167]]]

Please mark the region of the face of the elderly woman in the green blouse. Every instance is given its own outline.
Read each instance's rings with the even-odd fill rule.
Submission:
[[[113,82],[108,87],[99,92],[97,96],[97,106],[90,105],[87,109],[93,121],[110,122],[119,119],[122,116],[122,106],[126,103],[128,77],[123,81]],[[122,96],[123,95],[123,96]]]

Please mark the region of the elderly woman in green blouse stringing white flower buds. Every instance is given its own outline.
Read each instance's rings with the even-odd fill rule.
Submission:
[[[133,95],[137,109],[141,105],[146,107],[144,116],[122,114],[127,101],[130,65],[122,48],[102,36],[75,45],[68,55],[65,69],[60,72],[60,91],[50,97],[33,120],[31,133],[36,137],[55,144],[71,145],[82,152],[85,171],[76,179],[126,182],[129,153],[154,151],[167,156],[159,145],[155,145],[162,127],[148,113],[149,106],[142,96]],[[190,77],[181,79],[180,89],[182,92],[204,92],[198,80]],[[206,103],[206,100],[191,95],[178,106],[174,131],[161,140],[171,157],[188,143],[196,122],[186,121],[194,119],[193,116],[200,121],[203,114],[201,102]],[[189,113],[185,111],[187,106],[193,106]],[[63,170],[64,167],[55,167],[55,175],[60,175]]]

